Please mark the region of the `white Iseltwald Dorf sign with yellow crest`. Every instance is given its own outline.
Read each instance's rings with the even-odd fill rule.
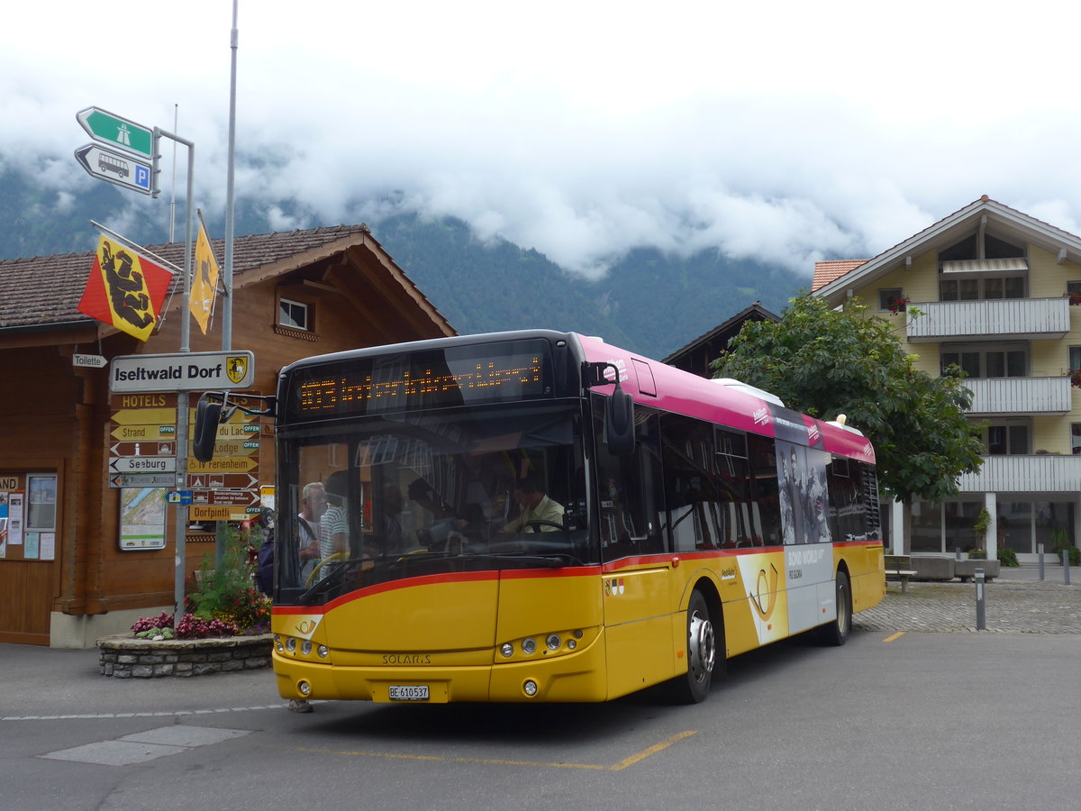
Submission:
[[[255,356],[246,350],[125,355],[112,359],[110,391],[191,391],[250,388]]]

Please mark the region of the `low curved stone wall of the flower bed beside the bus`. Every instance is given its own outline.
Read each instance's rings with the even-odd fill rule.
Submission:
[[[270,634],[159,641],[112,636],[98,639],[97,649],[103,676],[152,679],[269,667],[272,642]]]

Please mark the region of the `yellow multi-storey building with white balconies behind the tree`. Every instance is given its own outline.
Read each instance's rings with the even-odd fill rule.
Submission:
[[[897,553],[974,545],[986,507],[988,558],[1081,534],[1081,237],[986,196],[878,256],[820,262],[813,291],[832,305],[858,296],[893,321],[932,375],[956,363],[973,393],[986,456],[943,504],[917,502],[908,539],[891,510]],[[902,546],[905,546],[902,549]]]

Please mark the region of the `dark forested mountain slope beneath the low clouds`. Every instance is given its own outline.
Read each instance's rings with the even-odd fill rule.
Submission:
[[[266,210],[263,202],[238,200],[238,236],[271,230],[259,214]],[[120,218],[125,236],[164,242],[168,217],[164,200],[124,194],[105,183],[57,194],[0,165],[0,258],[91,251],[96,240],[91,218]],[[178,230],[183,217],[181,209]],[[219,236],[222,218],[206,220],[212,235]],[[502,239],[482,243],[452,217],[399,214],[370,225],[379,243],[463,334],[573,330],[660,358],[752,302],[779,313],[809,283],[790,271],[713,251],[678,257],[652,249],[632,251],[603,279],[590,281],[538,251]]]

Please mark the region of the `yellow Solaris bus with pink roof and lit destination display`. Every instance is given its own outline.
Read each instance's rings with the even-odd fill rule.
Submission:
[[[283,697],[699,702],[885,593],[866,437],[598,338],[313,357],[275,409]]]

